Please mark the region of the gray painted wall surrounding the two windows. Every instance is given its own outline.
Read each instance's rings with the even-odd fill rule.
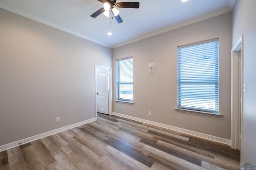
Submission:
[[[177,47],[220,38],[220,114],[208,117],[181,113],[177,107]],[[174,127],[230,139],[232,14],[200,21],[113,50],[113,77],[116,59],[133,56],[134,102],[113,101],[113,111]],[[150,72],[148,63],[154,63]],[[113,79],[113,99],[116,80]],[[151,111],[152,115],[148,115]]]

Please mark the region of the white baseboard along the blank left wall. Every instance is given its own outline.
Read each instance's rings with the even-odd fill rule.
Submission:
[[[85,121],[81,121],[81,122],[78,122],[78,123],[74,123],[72,125],[68,125],[68,126],[65,126],[65,127],[61,127],[61,128],[58,128],[58,129],[54,129],[52,131],[48,131],[48,132],[45,132],[45,133],[41,133],[41,134],[38,134],[38,135],[35,135],[35,136],[32,136],[32,137],[28,137],[28,138],[25,138],[25,139],[21,139],[19,141],[15,141],[15,142],[12,142],[12,143],[8,143],[8,144],[5,144],[5,145],[2,145],[0,146],[0,152],[1,151],[4,151],[4,150],[7,150],[7,149],[11,149],[11,148],[14,148],[14,147],[18,147],[20,145],[23,145],[25,143],[29,143],[29,142],[32,142],[32,141],[36,141],[38,139],[41,139],[41,138],[44,138],[44,137],[47,137],[47,136],[50,136],[50,135],[53,135],[53,134],[56,134],[56,133],[60,133],[62,131],[66,131],[68,129],[72,129],[74,127],[78,127],[80,125],[84,125],[86,123],[90,123],[92,121],[96,121],[97,120],[97,117],[94,117],[92,119],[88,119],[88,120],[85,120]]]

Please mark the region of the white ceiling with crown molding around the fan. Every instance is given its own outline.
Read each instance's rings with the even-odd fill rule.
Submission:
[[[97,0],[0,0],[0,7],[79,37],[116,48],[232,11],[235,0],[117,0],[140,2],[118,8],[122,23],[100,14]],[[111,21],[111,23],[110,23]],[[112,35],[107,35],[111,31]]]

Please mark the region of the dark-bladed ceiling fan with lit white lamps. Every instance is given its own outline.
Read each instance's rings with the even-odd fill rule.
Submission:
[[[116,2],[116,0],[98,0],[103,4],[103,7],[100,8],[98,11],[94,12],[91,17],[96,18],[98,15],[103,14],[109,17],[110,11],[112,12],[113,16],[116,18],[118,23],[121,23],[123,20],[119,15],[119,10],[117,10],[114,6],[118,8],[139,8],[139,2]]]

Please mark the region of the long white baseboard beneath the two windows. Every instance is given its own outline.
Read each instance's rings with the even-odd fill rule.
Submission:
[[[207,134],[196,132],[196,131],[190,131],[188,129],[182,129],[180,127],[174,127],[174,126],[171,126],[171,125],[166,125],[166,124],[162,124],[162,123],[158,123],[158,122],[154,122],[154,121],[149,121],[149,120],[146,120],[146,119],[141,119],[141,118],[138,118],[138,117],[128,116],[128,115],[124,115],[124,114],[120,114],[120,113],[116,113],[116,112],[112,112],[112,115],[124,117],[124,118],[127,118],[127,119],[132,119],[132,120],[135,120],[135,121],[140,121],[142,123],[147,123],[147,124],[158,126],[158,127],[163,127],[165,129],[170,129],[170,130],[177,131],[177,132],[180,132],[180,133],[185,133],[187,135],[192,135],[194,137],[199,137],[199,138],[202,138],[202,139],[207,139],[207,140],[210,140],[210,141],[223,143],[223,144],[226,144],[226,145],[230,146],[230,140],[229,139],[224,139],[224,138],[221,138],[221,137],[207,135]]]

